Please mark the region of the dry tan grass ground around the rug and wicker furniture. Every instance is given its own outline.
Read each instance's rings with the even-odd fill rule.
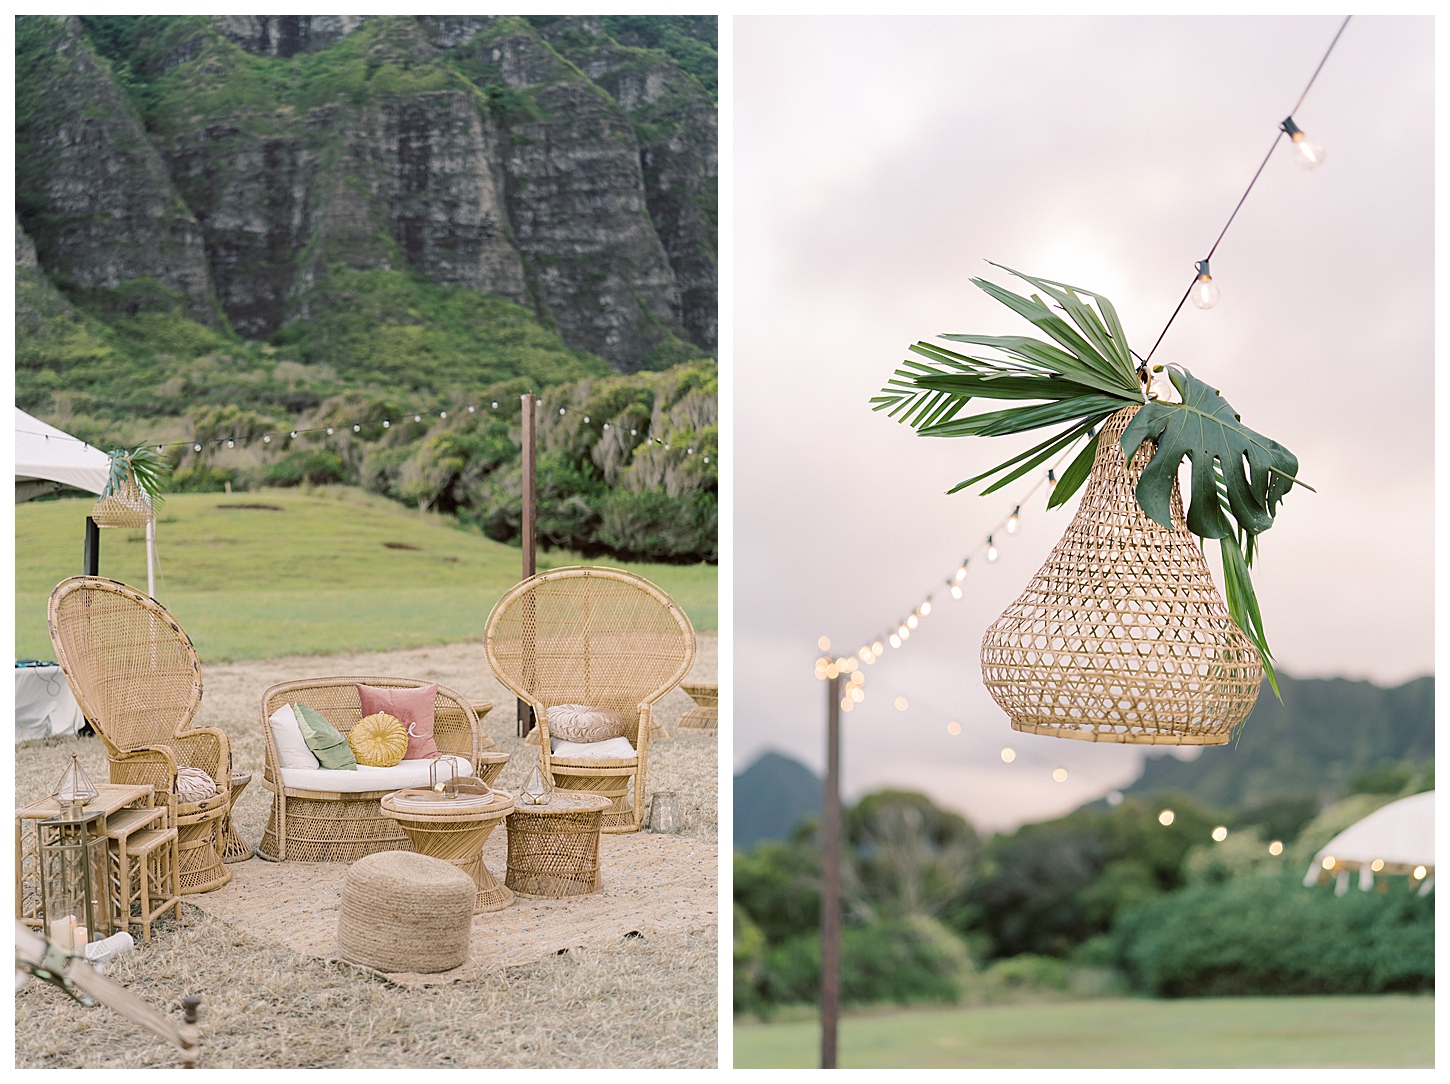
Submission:
[[[715,680],[715,643],[713,635],[700,635],[695,680]],[[513,703],[477,643],[209,665],[197,722],[225,729],[235,765],[258,780],[235,814],[248,842],[261,839],[270,799],[260,785],[262,690],[325,674],[419,677],[492,700],[497,709],[484,729],[515,754],[500,783],[522,783],[534,748],[515,736]],[[676,690],[661,701],[658,719],[671,727],[689,706]],[[93,778],[106,778],[96,739],[28,743],[16,749],[17,804],[45,794],[71,752]],[[650,790],[680,794],[684,835],[710,842],[718,829],[716,752],[713,732],[683,730],[652,745],[650,762]],[[716,930],[705,926],[418,990],[293,952],[184,906],[180,923],[162,922],[155,941],[138,943],[110,974],[154,1004],[175,1009],[183,996],[202,997],[202,1064],[210,1068],[684,1068],[716,1062]],[[17,1068],[175,1064],[170,1049],[110,1010],[81,1009],[38,983],[16,994],[14,1042]]]

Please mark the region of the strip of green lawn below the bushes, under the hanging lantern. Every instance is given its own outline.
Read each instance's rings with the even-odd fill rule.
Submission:
[[[1434,1065],[1434,997],[1109,998],[841,1022],[841,1068]],[[735,1068],[819,1065],[812,1022],[735,1026]]]

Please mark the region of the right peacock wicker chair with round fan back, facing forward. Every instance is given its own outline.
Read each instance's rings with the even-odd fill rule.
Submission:
[[[554,568],[499,599],[483,645],[493,675],[532,704],[539,765],[552,774],[554,785],[608,797],[605,832],[638,832],[650,767],[650,713],[695,662],[695,626],[684,610],[648,580],[618,568]],[[551,755],[548,709],[558,704],[618,712],[635,755]]]

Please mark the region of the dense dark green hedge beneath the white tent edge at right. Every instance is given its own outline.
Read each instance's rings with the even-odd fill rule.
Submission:
[[[1114,926],[1115,956],[1159,997],[1378,994],[1434,988],[1434,899],[1305,888],[1292,872],[1147,900]]]

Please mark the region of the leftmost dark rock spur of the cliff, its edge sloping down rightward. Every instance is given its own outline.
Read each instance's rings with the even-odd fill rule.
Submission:
[[[74,19],[23,19],[16,203],[46,272],[78,288],[154,280],[216,319],[202,226]]]

